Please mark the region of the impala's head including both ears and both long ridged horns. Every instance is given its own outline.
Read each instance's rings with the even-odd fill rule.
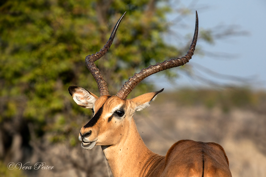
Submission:
[[[96,67],[94,62],[100,59],[110,48],[116,34],[116,30],[121,22],[122,17],[116,23],[116,26],[111,33],[106,45],[96,54],[88,55],[85,58],[87,68],[92,73],[97,82],[100,91],[100,97],[77,86],[70,86],[69,93],[74,101],[81,107],[90,108],[93,110],[93,118],[84,125],[79,134],[79,140],[82,141],[82,147],[92,149],[95,145],[116,145],[123,139],[129,131],[132,123],[132,116],[135,111],[140,111],[150,105],[150,102],[155,96],[162,92],[151,92],[137,96],[133,99],[126,99],[134,87],[144,78],[166,70],[168,68],[184,65],[192,58],[195,50],[197,35],[198,35],[198,17],[196,12],[195,33],[190,45],[189,51],[182,58],[171,59],[156,65],[150,65],[148,68],[142,69],[140,73],[135,73],[132,78],[129,78],[116,95],[109,95],[108,86],[103,79],[101,72]]]

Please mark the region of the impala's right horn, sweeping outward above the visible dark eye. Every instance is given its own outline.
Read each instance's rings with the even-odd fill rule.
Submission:
[[[135,73],[132,78],[129,78],[129,80],[125,82],[125,84],[117,92],[116,96],[125,100],[126,97],[130,94],[130,92],[134,89],[134,87],[146,77],[169,68],[174,68],[184,65],[185,63],[189,62],[189,60],[192,58],[192,55],[194,54],[194,50],[196,47],[198,30],[199,30],[199,22],[198,22],[198,14],[196,11],[196,24],[195,24],[194,37],[189,47],[189,51],[186,53],[186,55],[184,57],[171,59],[169,61],[165,60],[162,63],[156,63],[156,65],[150,65],[148,68],[142,69],[139,73]]]

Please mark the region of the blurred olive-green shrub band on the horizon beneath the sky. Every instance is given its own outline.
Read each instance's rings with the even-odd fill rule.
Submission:
[[[160,99],[174,100],[179,106],[204,105],[207,108],[220,107],[224,112],[233,108],[262,111],[266,105],[266,93],[247,88],[227,88],[223,90],[181,89],[176,92],[163,93]],[[164,97],[164,98],[163,98]]]

